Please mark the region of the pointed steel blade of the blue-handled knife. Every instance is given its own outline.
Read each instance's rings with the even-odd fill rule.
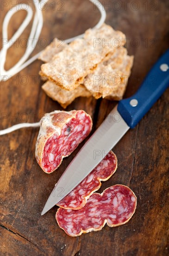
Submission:
[[[129,128],[116,106],[69,164],[41,215],[68,195],[77,186],[77,181],[80,183],[97,166]]]

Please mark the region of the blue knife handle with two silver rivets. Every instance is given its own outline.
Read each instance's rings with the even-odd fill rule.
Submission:
[[[169,50],[156,62],[138,91],[119,101],[118,111],[130,128],[134,128],[169,86]]]

